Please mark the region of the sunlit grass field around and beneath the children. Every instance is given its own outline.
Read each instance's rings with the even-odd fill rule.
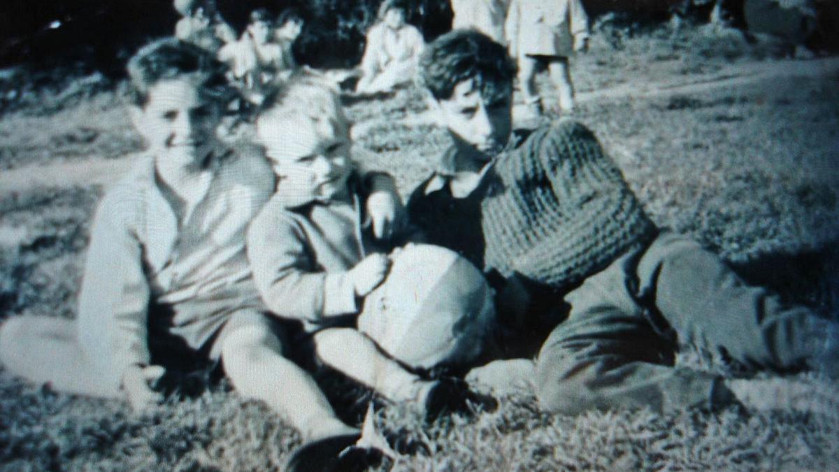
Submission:
[[[610,87],[715,81],[732,65],[774,61],[764,55],[736,35],[700,29],[675,36],[612,32],[595,37],[573,74],[581,97],[594,97]],[[782,78],[581,100],[575,118],[602,139],[656,223],[718,250],[748,280],[835,315],[839,74],[800,76],[795,62],[789,64]],[[76,160],[95,165],[141,149],[118,91],[66,102],[46,95],[4,114],[0,169]],[[357,139],[359,159],[389,170],[403,192],[447,144],[440,129],[409,119],[423,109],[413,89],[348,106],[353,119],[368,124]],[[0,188],[0,317],[75,316],[91,212],[101,194],[101,186],[83,179]],[[692,349],[679,361],[753,375]],[[835,384],[813,375],[757,375],[752,396],[751,408],[715,414],[618,410],[565,417],[539,412],[521,393],[503,397],[497,412],[427,427],[404,406],[388,406],[377,419],[430,450],[399,457],[396,470],[839,469]],[[119,402],[24,385],[0,370],[4,470],[277,469],[298,443],[293,429],[224,383],[136,415]]]

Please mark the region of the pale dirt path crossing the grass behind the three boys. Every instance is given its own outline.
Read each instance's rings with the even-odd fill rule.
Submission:
[[[579,102],[596,102],[627,97],[662,97],[706,92],[708,90],[734,87],[779,77],[819,77],[839,73],[839,57],[816,60],[775,60],[750,62],[729,66],[713,74],[697,76],[685,83],[685,79],[670,79],[648,83],[626,83],[591,92],[580,92]],[[513,110],[518,118],[524,114],[521,108]],[[405,120],[407,124],[429,123],[430,118],[421,113]],[[377,126],[376,121],[357,123],[353,134]],[[32,165],[4,171],[0,175],[0,195],[24,191],[29,188],[48,186],[65,187],[75,185],[107,185],[128,169],[131,156],[115,160],[88,159],[72,160],[51,165]]]

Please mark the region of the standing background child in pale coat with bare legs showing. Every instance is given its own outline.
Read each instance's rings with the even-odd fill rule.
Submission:
[[[588,18],[580,0],[513,0],[504,26],[508,49],[519,63],[519,87],[534,113],[542,112],[536,66],[546,64],[563,112],[574,109],[569,58],[586,50]]]

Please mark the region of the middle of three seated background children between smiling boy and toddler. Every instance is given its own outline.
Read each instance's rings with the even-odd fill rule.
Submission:
[[[254,103],[268,94],[278,71],[284,70],[283,47],[274,42],[274,17],[265,8],[258,8],[250,15],[250,23],[242,37],[224,45],[218,59],[230,66],[232,81]]]

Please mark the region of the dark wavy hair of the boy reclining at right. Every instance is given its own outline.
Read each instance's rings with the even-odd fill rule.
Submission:
[[[420,56],[420,81],[437,100],[451,98],[461,81],[475,79],[482,97],[513,90],[516,65],[503,45],[474,29],[456,29],[432,41]]]

